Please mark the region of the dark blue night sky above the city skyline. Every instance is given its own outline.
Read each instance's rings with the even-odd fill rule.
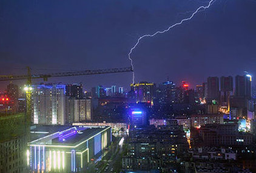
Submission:
[[[127,54],[141,35],[166,29],[207,2],[1,0],[0,74],[24,74],[27,66],[32,73],[129,67]],[[169,77],[194,86],[208,76],[244,71],[256,77],[256,1],[217,0],[168,33],[143,39],[132,58],[135,82],[160,83]],[[129,88],[132,73],[49,82],[83,82],[86,89],[98,84]],[[0,90],[7,83],[1,82]]]

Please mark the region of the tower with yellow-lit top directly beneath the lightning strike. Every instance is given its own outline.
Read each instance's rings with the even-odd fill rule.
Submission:
[[[136,102],[153,103],[155,83],[140,82],[130,84],[130,89],[135,92]]]

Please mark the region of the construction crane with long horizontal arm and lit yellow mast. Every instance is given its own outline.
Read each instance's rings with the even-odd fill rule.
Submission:
[[[124,67],[124,68],[108,68],[101,70],[84,70],[84,71],[72,71],[72,72],[62,72],[62,73],[49,73],[49,74],[31,74],[31,70],[27,67],[27,74],[24,75],[0,75],[0,81],[6,80],[22,80],[27,79],[25,85],[25,93],[26,93],[26,109],[27,116],[26,121],[30,123],[31,114],[32,114],[32,79],[44,79],[47,81],[49,77],[69,77],[69,76],[81,76],[81,75],[92,75],[92,74],[107,74],[107,73],[124,73],[133,71],[132,67]]]

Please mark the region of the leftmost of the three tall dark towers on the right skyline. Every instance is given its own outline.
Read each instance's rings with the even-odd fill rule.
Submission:
[[[207,78],[207,101],[212,102],[212,100],[219,99],[219,82],[218,77],[208,77]]]

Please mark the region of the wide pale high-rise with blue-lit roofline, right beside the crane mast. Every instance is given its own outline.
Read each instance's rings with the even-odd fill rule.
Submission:
[[[42,125],[64,125],[65,85],[35,85],[33,87],[32,122]]]

